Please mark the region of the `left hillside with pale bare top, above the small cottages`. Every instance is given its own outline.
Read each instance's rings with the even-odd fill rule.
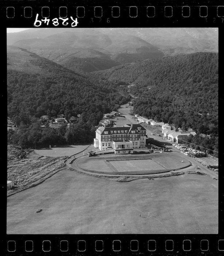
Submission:
[[[16,124],[29,124],[43,114],[85,113],[94,126],[103,112],[130,99],[124,87],[73,72],[15,46],[7,48],[7,64],[8,116]]]

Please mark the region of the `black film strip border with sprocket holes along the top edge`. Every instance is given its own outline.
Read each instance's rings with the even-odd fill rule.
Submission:
[[[13,2],[1,7],[1,13],[8,25],[18,26],[26,23],[34,27],[70,26],[74,18],[78,19],[79,27],[86,26],[113,26],[121,23],[124,26],[155,26],[158,22],[165,25],[188,25],[195,22],[196,26],[213,26],[224,23],[224,3],[217,5],[92,5],[74,6],[54,5],[13,5]],[[56,20],[57,19],[57,22]],[[120,24],[121,25],[121,24]]]

